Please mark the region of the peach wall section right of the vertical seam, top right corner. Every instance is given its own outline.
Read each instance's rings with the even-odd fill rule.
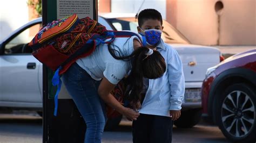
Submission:
[[[220,45],[256,45],[256,1],[223,0]]]

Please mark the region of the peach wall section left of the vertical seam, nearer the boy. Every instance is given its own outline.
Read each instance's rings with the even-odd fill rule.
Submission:
[[[167,4],[171,11],[174,10],[169,11],[167,20],[193,44],[217,44],[218,16],[214,0],[171,0]]]

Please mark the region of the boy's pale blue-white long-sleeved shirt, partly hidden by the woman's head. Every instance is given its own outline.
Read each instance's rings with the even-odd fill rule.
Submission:
[[[170,110],[180,110],[185,93],[183,64],[177,51],[161,39],[157,51],[165,59],[163,76],[149,80],[146,95],[139,113],[170,116]]]

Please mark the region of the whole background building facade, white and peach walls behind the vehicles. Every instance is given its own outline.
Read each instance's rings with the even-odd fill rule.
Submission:
[[[99,12],[147,8],[157,9],[192,44],[256,45],[255,0],[98,0]],[[29,22],[32,13],[27,0],[1,1],[0,40]]]

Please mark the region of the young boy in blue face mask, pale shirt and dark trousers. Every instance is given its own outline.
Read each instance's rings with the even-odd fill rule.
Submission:
[[[132,123],[134,143],[172,142],[173,121],[180,117],[185,81],[182,62],[175,49],[161,39],[163,20],[154,9],[138,15],[138,32],[143,46],[157,50],[164,57],[166,72],[156,80],[144,79],[144,94],[139,117]]]

